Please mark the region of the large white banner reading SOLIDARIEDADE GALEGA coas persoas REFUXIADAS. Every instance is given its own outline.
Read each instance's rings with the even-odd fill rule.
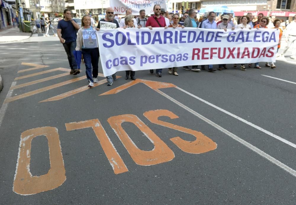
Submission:
[[[104,76],[208,64],[275,62],[277,29],[118,28],[97,31]]]

